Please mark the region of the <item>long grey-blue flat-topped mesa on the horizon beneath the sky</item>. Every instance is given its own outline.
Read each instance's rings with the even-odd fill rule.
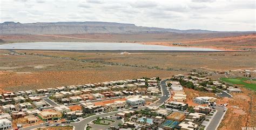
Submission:
[[[84,33],[213,33],[208,30],[150,28],[113,22],[0,23],[0,34],[84,34]]]

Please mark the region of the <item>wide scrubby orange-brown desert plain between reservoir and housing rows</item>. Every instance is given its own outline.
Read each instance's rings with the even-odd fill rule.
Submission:
[[[21,88],[35,90],[141,77],[168,78],[174,74],[188,73],[192,69],[225,71],[256,66],[256,62],[251,60],[256,59],[256,52],[129,55],[117,52],[17,52],[26,52],[26,55],[5,56],[0,53],[0,88],[5,91],[18,91]],[[233,59],[239,59],[239,62]]]

